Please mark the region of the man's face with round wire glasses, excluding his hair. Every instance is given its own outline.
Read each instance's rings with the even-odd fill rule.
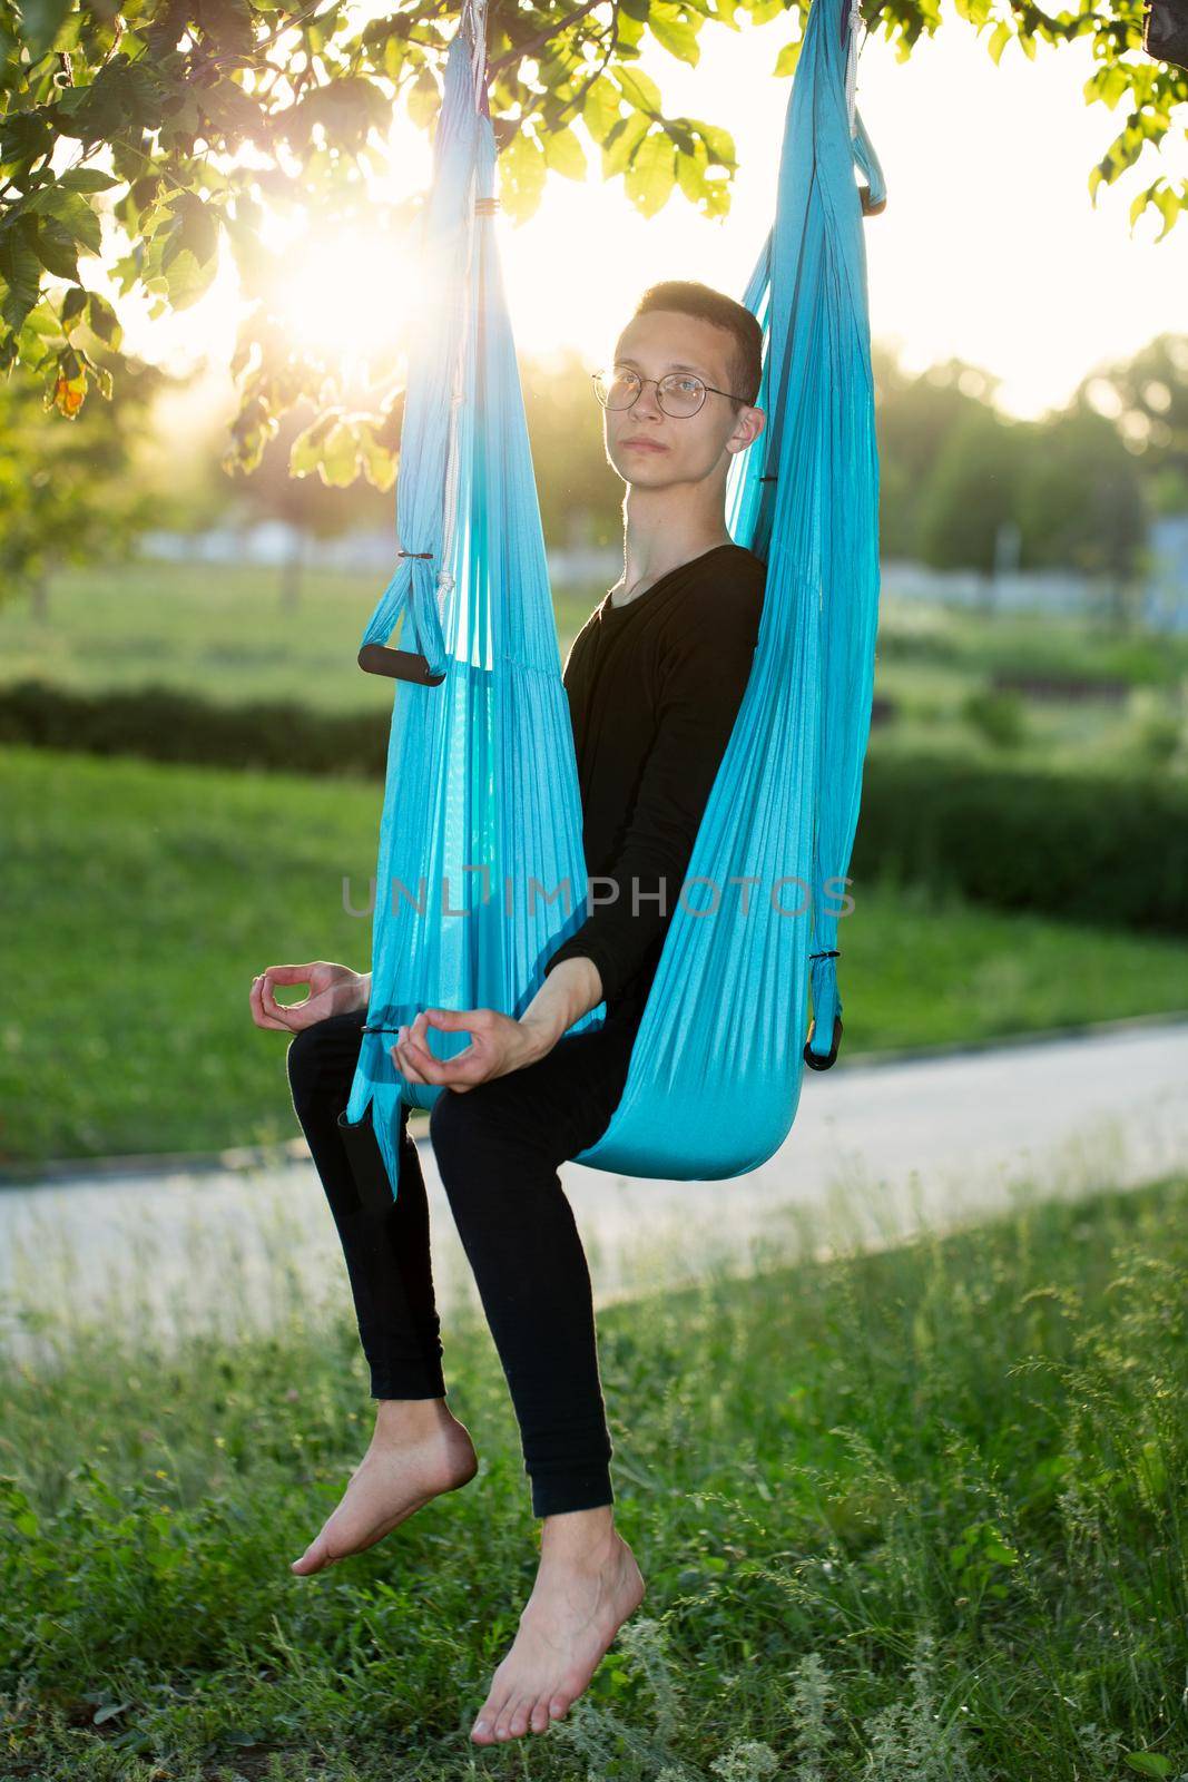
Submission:
[[[641,378],[695,371],[714,390],[732,390],[734,337],[700,315],[648,310],[634,315],[614,346],[614,365],[631,365]],[[700,483],[728,465],[728,458],[762,433],[762,408],[736,413],[725,396],[709,392],[695,415],[666,415],[655,383],[645,383],[631,408],[607,408],[606,454],[625,483],[668,488]]]

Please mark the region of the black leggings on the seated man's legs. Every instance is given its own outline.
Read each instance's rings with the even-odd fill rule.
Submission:
[[[429,1203],[401,1110],[395,1199],[370,1114],[344,1133],[365,1010],[301,1028],[294,1112],[342,1238],[376,1399],[445,1397],[429,1265]],[[598,1139],[627,1082],[641,1010],[566,1034],[543,1059],[443,1089],[429,1133],[520,1424],[533,1515],[611,1504],[611,1436],[586,1253],[557,1165]]]

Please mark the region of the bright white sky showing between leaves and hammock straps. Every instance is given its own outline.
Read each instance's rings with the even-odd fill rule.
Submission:
[[[887,180],[887,208],[866,221],[871,331],[908,371],[960,356],[1001,380],[997,405],[1024,419],[1060,406],[1095,365],[1124,358],[1160,331],[1188,331],[1188,216],[1156,246],[1161,219],[1131,233],[1129,205],[1158,171],[1188,176],[1184,132],[1168,134],[1161,159],[1147,146],[1135,169],[1090,203],[1088,173],[1122,125],[1122,109],[1086,105],[1088,45],[1040,43],[1035,62],[1008,43],[996,68],[987,37],[951,4],[935,39],[921,37],[899,62],[882,36],[858,59],[858,110]],[[648,41],[643,68],[668,114],[728,128],[737,173],[728,217],[711,221],[679,191],[641,217],[622,180],[604,184],[588,151],[586,184],[550,175],[538,212],[499,221],[504,280],[522,351],[574,346],[590,364],[606,356],[634,298],[661,278],[698,278],[741,298],[775,207],[784,114],[791,82],[775,78],[787,18],[707,23],[691,68]],[[581,132],[579,132],[581,134]],[[582,141],[586,141],[582,137]],[[406,119],[394,128],[397,194],[427,178],[427,139]],[[338,287],[335,287],[335,280]],[[360,289],[378,292],[383,267],[363,242],[322,255],[294,278],[297,321],[340,314]],[[233,347],[237,287],[224,266],[194,308],[160,323],[126,314],[128,346],[155,360]],[[365,331],[369,321],[360,319]],[[395,326],[387,308],[370,326]]]

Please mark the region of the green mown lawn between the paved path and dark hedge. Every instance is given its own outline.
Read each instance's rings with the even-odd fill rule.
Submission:
[[[48,750],[0,754],[0,1164],[299,1137],[251,978],[370,964],[381,793]],[[1181,1009],[1183,943],[851,886],[844,1057]],[[841,1067],[841,1066],[839,1066]]]

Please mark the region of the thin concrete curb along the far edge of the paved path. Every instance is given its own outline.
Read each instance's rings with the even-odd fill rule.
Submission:
[[[1129,1032],[1147,1032],[1161,1026],[1183,1026],[1188,1023],[1188,1009],[1170,1014],[1122,1016],[1115,1021],[1081,1021],[1067,1026],[1037,1028],[1033,1034],[1008,1034],[999,1039],[971,1039],[956,1044],[903,1046],[887,1051],[860,1051],[846,1057],[839,1053],[835,1071],[871,1071],[889,1064],[939,1064],[944,1059],[964,1059],[980,1051],[1012,1051],[1021,1046],[1056,1044],[1065,1039],[1097,1039]],[[805,1076],[818,1073],[805,1071]],[[427,1142],[427,1114],[413,1110],[413,1137]],[[420,1128],[420,1130],[419,1130]],[[27,1169],[0,1169],[0,1190],[50,1187],[53,1183],[94,1181],[96,1178],[128,1176],[199,1176],[199,1174],[248,1174],[255,1169],[283,1169],[287,1164],[308,1164],[310,1149],[305,1139],[285,1139],[281,1144],[232,1146],[224,1151],[144,1151],[132,1157],[78,1157],[52,1158],[46,1164],[30,1164]]]

